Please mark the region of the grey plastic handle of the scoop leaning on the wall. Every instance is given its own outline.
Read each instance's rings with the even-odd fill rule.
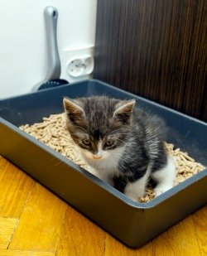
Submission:
[[[55,7],[46,7],[44,10],[46,23],[46,41],[48,51],[48,70],[46,80],[55,80],[60,78],[60,57],[57,47],[57,18],[58,12]]]

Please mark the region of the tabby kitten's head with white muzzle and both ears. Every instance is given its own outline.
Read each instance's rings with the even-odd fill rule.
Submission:
[[[67,128],[86,160],[101,162],[124,146],[135,100],[94,96],[65,98],[63,103]]]

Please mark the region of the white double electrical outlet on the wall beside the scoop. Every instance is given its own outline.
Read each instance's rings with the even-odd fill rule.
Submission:
[[[63,50],[61,77],[70,82],[89,79],[94,70],[94,46]]]

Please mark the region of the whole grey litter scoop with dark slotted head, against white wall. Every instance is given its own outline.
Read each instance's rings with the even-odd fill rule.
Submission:
[[[44,10],[46,24],[46,41],[48,51],[48,70],[45,80],[35,85],[31,91],[47,89],[59,85],[69,84],[68,81],[60,79],[61,65],[57,48],[57,18],[58,12],[55,7],[46,7]]]

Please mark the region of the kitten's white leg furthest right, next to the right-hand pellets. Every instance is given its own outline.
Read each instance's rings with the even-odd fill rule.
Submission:
[[[157,185],[154,189],[156,196],[160,196],[165,191],[171,189],[176,178],[176,165],[174,158],[168,156],[166,167],[159,171],[155,171],[152,176],[157,181]]]

